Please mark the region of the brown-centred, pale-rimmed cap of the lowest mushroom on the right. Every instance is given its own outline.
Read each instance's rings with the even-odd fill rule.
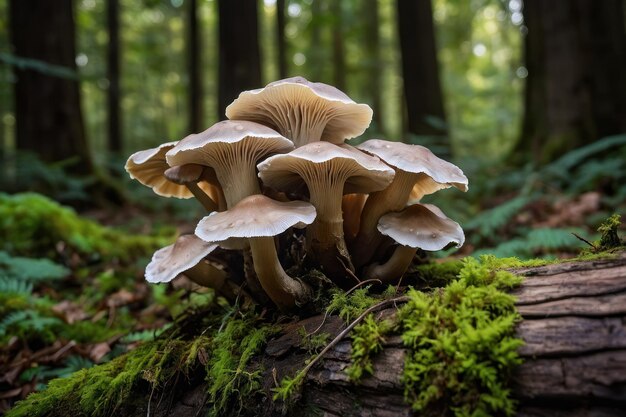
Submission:
[[[465,242],[461,226],[432,204],[414,204],[399,212],[387,213],[378,221],[380,233],[401,245],[436,251],[449,243]]]

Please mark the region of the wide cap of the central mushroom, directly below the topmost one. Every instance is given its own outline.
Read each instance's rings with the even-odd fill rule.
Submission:
[[[344,194],[382,190],[393,180],[395,172],[380,159],[369,156],[350,145],[312,142],[288,154],[274,155],[259,165],[259,177],[266,185],[282,191],[303,193],[303,177],[346,178]]]

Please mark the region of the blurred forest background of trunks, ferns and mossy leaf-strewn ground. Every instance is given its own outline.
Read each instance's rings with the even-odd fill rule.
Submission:
[[[141,276],[146,248],[189,231],[201,207],[156,198],[124,161],[208,128],[240,91],[280,78],[369,104],[372,125],[350,143],[421,144],[464,170],[467,195],[436,200],[465,230],[455,256],[560,257],[592,244],[626,208],[625,20],[623,0],[0,2],[0,297],[23,301],[0,308],[0,370],[17,369],[0,380],[13,393],[3,407],[151,337],[180,300],[199,302]],[[43,239],[46,216],[68,223]],[[16,287],[16,259],[40,258],[61,269],[28,270]],[[16,317],[15,305],[30,309]],[[95,330],[70,330],[85,320]],[[62,351],[69,340],[78,347]],[[51,346],[62,354],[11,368]]]

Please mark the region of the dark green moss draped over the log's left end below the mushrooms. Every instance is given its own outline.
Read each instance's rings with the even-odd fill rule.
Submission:
[[[256,316],[224,315],[222,309],[208,314],[198,311],[182,320],[176,328],[123,356],[51,381],[45,391],[18,402],[6,416],[146,414],[151,401],[175,392],[180,381],[201,367],[209,414],[239,415],[260,389],[261,370],[251,372],[250,360],[274,328]],[[181,328],[196,325],[206,326],[202,335],[186,340],[179,334]],[[148,404],[146,398],[150,398]]]

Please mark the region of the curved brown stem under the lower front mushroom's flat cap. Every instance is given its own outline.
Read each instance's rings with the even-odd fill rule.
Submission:
[[[274,238],[253,237],[249,241],[254,270],[261,286],[278,308],[289,310],[296,304],[307,302],[312,294],[311,288],[287,275],[278,261]]]

